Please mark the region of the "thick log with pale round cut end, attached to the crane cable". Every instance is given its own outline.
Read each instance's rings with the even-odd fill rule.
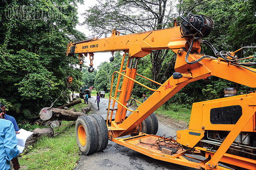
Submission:
[[[50,108],[49,107],[44,107],[41,109],[39,113],[39,117],[42,120],[69,120],[69,121],[74,121],[78,117],[83,116],[85,114],[81,112],[73,112],[70,110],[64,110],[64,109],[59,109],[59,108]]]

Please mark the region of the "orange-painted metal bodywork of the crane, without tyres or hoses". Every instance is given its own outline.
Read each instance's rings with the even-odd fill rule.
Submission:
[[[191,42],[191,39],[188,39],[188,42]],[[108,123],[110,123],[108,121],[107,126],[109,129],[109,137],[115,143],[118,143],[155,159],[167,161],[170,163],[178,163],[180,165],[197,169],[227,169],[218,165],[218,162],[220,161],[234,164],[235,161],[241,161],[242,167],[256,167],[255,160],[238,157],[235,155],[228,155],[227,153],[225,153],[240,132],[256,132],[254,129],[256,124],[256,93],[228,97],[224,99],[209,100],[193,104],[189,129],[185,131],[178,131],[177,133],[177,141],[179,143],[185,146],[188,144],[187,147],[194,147],[196,146],[197,142],[201,140],[201,137],[203,136],[205,130],[230,131],[223,143],[221,143],[221,146],[218,148],[216,153],[206,153],[208,155],[211,154],[211,158],[209,160],[204,160],[196,163],[189,161],[182,156],[183,154],[187,153],[187,151],[179,151],[177,154],[174,155],[166,155],[164,153],[159,153],[159,150],[156,150],[156,148],[149,148],[148,146],[142,145],[142,143],[138,143],[138,139],[152,142],[154,137],[157,136],[140,133],[140,135],[131,138],[118,138],[134,132],[136,130],[136,127],[141,124],[143,120],[145,120],[150,114],[152,114],[156,109],[163,105],[163,103],[173,97],[174,94],[176,94],[188,83],[201,80],[209,76],[216,76],[248,87],[256,87],[256,82],[254,81],[256,80],[256,73],[254,73],[256,72],[256,69],[254,68],[238,67],[221,58],[205,58],[198,63],[188,64],[185,60],[187,54],[186,51],[188,50],[188,42],[185,38],[182,37],[180,33],[180,27],[147,31],[124,36],[119,36],[118,32],[116,30],[113,30],[111,37],[84,41],[81,43],[70,42],[68,44],[67,54],[70,53],[70,48],[72,46],[75,46],[75,53],[90,54],[95,52],[120,50],[128,53],[128,62],[126,69],[123,70],[123,64],[125,61],[124,54],[120,71],[114,72],[119,74],[118,85],[116,87],[114,97],[111,96],[114,73],[112,75],[111,81],[111,93],[107,114],[110,113],[111,99],[114,99],[112,107],[114,107],[114,102],[118,101],[118,110],[116,111],[114,121],[111,121],[113,115],[113,110],[111,110],[111,126],[108,126]],[[183,77],[181,77],[180,79],[173,79],[173,77],[170,77],[163,84],[157,83],[144,77],[147,80],[150,80],[160,85],[160,87],[156,90],[147,87],[135,80],[136,70],[133,70],[131,68],[131,64],[132,60],[135,57],[144,57],[145,55],[151,53],[152,50],[160,49],[171,49],[174,53],[177,53],[175,71],[181,73]],[[179,54],[178,50],[180,50]],[[201,46],[198,40],[194,42],[192,50],[193,53],[190,53],[188,55],[189,61],[194,61],[204,56],[204,54],[200,53]],[[246,68],[253,70],[254,72],[249,71]],[[125,72],[125,74],[122,74],[122,72]],[[122,86],[121,90],[118,90],[121,76],[123,76]],[[142,75],[139,76],[143,77]],[[134,82],[142,85],[149,90],[154,91],[154,93],[152,93],[152,95],[147,100],[145,100],[144,103],[141,103],[141,105],[136,109],[136,112],[131,113],[131,115],[125,119],[126,110],[128,109],[125,105],[127,104],[126,101],[131,98],[130,95]],[[117,100],[116,97],[118,92],[120,92],[120,96]],[[211,108],[232,105],[240,105],[242,107],[242,116],[239,118],[236,124],[216,125],[210,122],[209,110],[211,110]],[[194,137],[191,140],[190,132],[193,132],[194,134],[200,133],[200,136]],[[195,148],[196,150],[194,153],[200,154],[201,148]]]

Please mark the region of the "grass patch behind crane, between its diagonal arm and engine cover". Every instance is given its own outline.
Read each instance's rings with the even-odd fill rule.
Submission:
[[[155,111],[156,114],[164,114],[168,117],[171,117],[175,120],[181,120],[186,123],[189,123],[191,106],[187,104],[177,105],[170,104],[167,108],[161,106],[159,109]]]

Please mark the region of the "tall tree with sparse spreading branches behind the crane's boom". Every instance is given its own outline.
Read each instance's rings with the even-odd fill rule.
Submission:
[[[98,0],[83,15],[85,22],[96,33],[111,32],[113,28],[121,34],[158,30],[170,27],[175,16],[175,4],[171,0]],[[174,57],[169,50],[154,50],[150,54],[153,80],[163,82],[166,57]]]

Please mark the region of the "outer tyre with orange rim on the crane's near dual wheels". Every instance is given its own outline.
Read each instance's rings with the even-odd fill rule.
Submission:
[[[87,115],[76,120],[76,143],[84,155],[90,155],[97,149],[97,129],[93,119]]]

